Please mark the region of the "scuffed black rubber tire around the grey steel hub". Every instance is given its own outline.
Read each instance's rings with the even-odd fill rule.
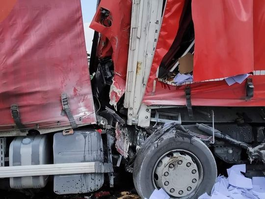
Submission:
[[[151,135],[139,151],[133,168],[133,182],[140,197],[149,198],[155,186],[153,184],[153,169],[158,159],[167,152],[175,149],[193,153],[200,160],[203,178],[196,193],[187,199],[197,199],[205,192],[209,193],[217,176],[215,159],[210,149],[198,138],[187,133],[172,131],[160,136]],[[172,198],[173,199],[173,198]],[[181,199],[186,199],[182,197]]]

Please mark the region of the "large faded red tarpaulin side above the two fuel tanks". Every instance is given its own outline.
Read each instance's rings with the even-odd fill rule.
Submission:
[[[12,129],[11,104],[26,127],[95,123],[80,0],[0,1],[0,129]],[[79,118],[82,118],[79,121]]]

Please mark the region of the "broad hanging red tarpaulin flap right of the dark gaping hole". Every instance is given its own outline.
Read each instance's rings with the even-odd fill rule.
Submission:
[[[194,81],[253,71],[252,0],[192,0],[192,18]]]

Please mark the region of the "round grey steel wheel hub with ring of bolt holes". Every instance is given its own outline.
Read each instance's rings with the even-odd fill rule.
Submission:
[[[170,152],[162,156],[154,170],[154,183],[173,197],[185,197],[194,192],[202,173],[194,159],[186,153]]]

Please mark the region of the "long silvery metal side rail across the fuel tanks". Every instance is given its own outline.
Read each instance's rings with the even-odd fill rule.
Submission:
[[[0,178],[63,174],[112,173],[111,163],[80,162],[0,167]]]

